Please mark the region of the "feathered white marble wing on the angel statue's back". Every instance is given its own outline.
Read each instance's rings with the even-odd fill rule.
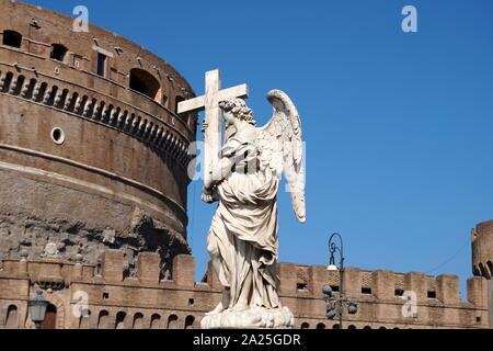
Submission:
[[[305,223],[305,155],[298,110],[280,90],[272,90],[267,100],[274,106],[274,115],[264,127],[259,128],[261,167],[270,167],[276,176],[284,172],[296,217]]]

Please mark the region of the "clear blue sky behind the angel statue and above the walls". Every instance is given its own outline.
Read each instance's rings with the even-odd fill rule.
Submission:
[[[198,94],[220,68],[225,87],[250,84],[260,124],[266,92],[288,92],[307,140],[308,223],[280,194],[280,261],[325,264],[340,231],[351,267],[440,265],[432,273],[465,288],[470,229],[493,219],[491,0],[28,2],[67,14],[85,4],[92,23],[163,57]],[[417,33],[401,30],[406,4]],[[197,278],[215,210],[200,188],[188,206]]]

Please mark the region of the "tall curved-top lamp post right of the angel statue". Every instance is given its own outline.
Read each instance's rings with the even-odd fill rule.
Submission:
[[[340,246],[334,242],[334,239],[339,238]],[[333,297],[332,287],[330,285],[325,285],[322,288],[323,298],[328,303],[326,306],[326,317],[329,319],[334,319],[339,316],[339,328],[343,329],[343,314],[344,308],[347,306],[347,313],[349,315],[355,315],[358,312],[358,304],[348,299],[348,297],[344,294],[344,244],[343,238],[340,234],[334,233],[329,239],[329,252],[331,253],[331,258],[329,261],[329,271],[337,271],[339,270],[339,297]],[[335,264],[334,253],[340,253],[339,268]]]

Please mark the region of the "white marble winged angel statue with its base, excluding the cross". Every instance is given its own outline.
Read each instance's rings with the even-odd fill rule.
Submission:
[[[262,128],[242,99],[219,103],[227,137],[203,200],[219,202],[207,250],[225,291],[220,304],[202,320],[205,329],[294,325],[277,293],[277,192],[284,173],[296,217],[305,223],[302,132],[286,93],[273,90],[267,99],[274,115]]]

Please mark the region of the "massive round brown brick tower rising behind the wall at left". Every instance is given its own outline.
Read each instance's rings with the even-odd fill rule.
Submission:
[[[160,252],[186,244],[194,91],[117,34],[0,1],[0,259]],[[58,252],[57,252],[58,251]]]

